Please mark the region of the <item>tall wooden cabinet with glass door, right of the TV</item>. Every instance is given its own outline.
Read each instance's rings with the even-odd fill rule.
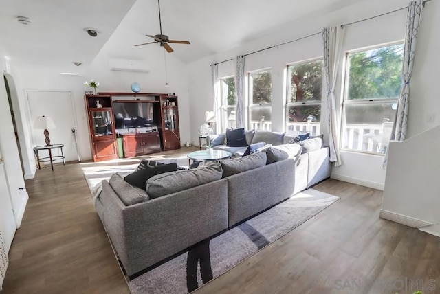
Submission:
[[[161,95],[159,101],[162,149],[164,151],[179,149],[181,144],[177,96]]]

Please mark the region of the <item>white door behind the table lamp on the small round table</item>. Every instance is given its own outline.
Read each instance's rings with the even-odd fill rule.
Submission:
[[[75,137],[72,132],[72,128],[76,129],[72,94],[61,91],[28,91],[28,101],[31,123],[34,124],[35,118],[39,116],[52,117],[56,128],[48,130],[50,144],[64,144],[63,153],[66,161],[78,161]],[[43,130],[32,129],[32,140],[34,146],[45,145]],[[60,151],[54,149],[52,152]]]

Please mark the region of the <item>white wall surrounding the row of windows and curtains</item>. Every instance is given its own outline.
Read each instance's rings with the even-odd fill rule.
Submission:
[[[337,10],[325,15],[309,16],[307,19],[293,21],[286,25],[283,30],[278,30],[262,36],[258,40],[250,41],[241,47],[222,52],[220,54],[203,58],[189,65],[190,69],[190,128],[191,139],[198,142],[197,135],[199,126],[203,123],[203,114],[212,109],[213,98],[210,81],[210,63],[220,62],[235,58],[238,54],[248,54],[259,49],[270,47],[279,43],[294,40],[303,36],[308,36],[316,32],[321,32],[324,27],[332,25],[342,25],[365,19],[370,16],[382,14],[408,5],[406,0],[393,1],[362,1],[353,5]],[[430,8],[431,3],[426,5]],[[436,4],[437,5],[437,4]],[[391,43],[404,40],[406,23],[406,10],[401,10],[376,19],[363,21],[345,27],[345,38],[343,50],[360,49],[364,47]],[[422,41],[423,42],[423,41]],[[301,60],[322,57],[322,36],[311,36],[301,41],[282,45],[274,49],[268,49],[245,57],[245,71],[272,68],[272,130],[285,131],[285,75],[284,70],[287,63],[295,63]],[[437,58],[437,57],[436,57]],[[338,105],[338,116],[340,116],[340,104],[342,101],[342,67],[340,64],[339,77],[336,87],[336,104]],[[234,74],[234,63],[228,61],[219,65],[219,77]],[[439,103],[439,102],[437,102]],[[325,105],[327,101],[322,100],[322,124],[321,132],[327,134],[325,126]],[[198,106],[198,107],[197,107]],[[439,114],[440,115],[440,114]],[[415,123],[411,126],[411,132],[421,131],[423,126]],[[416,131],[417,130],[417,131]],[[381,155],[366,155],[357,152],[342,151],[343,165],[333,168],[332,177],[366,185],[372,188],[383,189],[385,181],[385,171],[382,169],[383,157]]]

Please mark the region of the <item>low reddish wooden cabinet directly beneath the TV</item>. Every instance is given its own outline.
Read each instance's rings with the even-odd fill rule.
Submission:
[[[122,136],[124,157],[135,157],[160,152],[159,132],[137,133]]]

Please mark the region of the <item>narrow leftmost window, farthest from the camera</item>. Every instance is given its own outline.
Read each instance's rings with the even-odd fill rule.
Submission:
[[[235,128],[236,91],[234,76],[220,79],[221,131]]]

